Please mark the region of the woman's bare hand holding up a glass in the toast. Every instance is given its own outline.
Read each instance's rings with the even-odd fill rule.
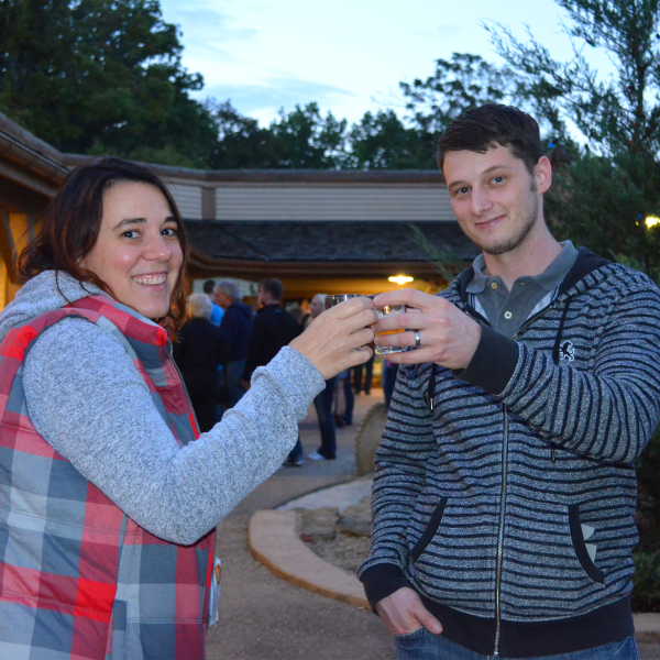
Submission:
[[[328,381],[372,356],[366,344],[374,341],[374,332],[369,326],[377,320],[370,298],[351,298],[319,315],[289,346],[302,353]]]

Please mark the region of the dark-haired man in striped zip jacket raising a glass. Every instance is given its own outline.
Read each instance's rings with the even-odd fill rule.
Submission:
[[[634,461],[660,408],[660,292],[543,219],[538,124],[457,119],[439,164],[483,251],[440,296],[389,292],[411,350],[377,452],[360,570],[399,658],[637,657]],[[442,632],[440,635],[440,632]]]

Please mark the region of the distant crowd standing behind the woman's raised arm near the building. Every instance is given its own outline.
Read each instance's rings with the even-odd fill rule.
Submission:
[[[174,360],[190,396],[201,432],[213,428],[250,389],[255,369],[267,364],[278,351],[306,330],[324,309],[324,294],[302,300],[290,312],[283,306],[279,279],[260,283],[256,312],[243,301],[239,285],[231,279],[204,283],[204,293],[188,296],[188,320],[174,344]],[[337,458],[337,428],[353,424],[355,395],[371,394],[374,356],[326,382],[314,400],[321,443],[307,455],[311,461]],[[383,363],[383,389],[389,406],[398,365]],[[286,461],[302,466],[300,440]]]

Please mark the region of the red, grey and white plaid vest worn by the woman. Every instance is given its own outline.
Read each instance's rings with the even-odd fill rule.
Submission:
[[[28,415],[26,351],[72,316],[123,343],[179,446],[198,436],[165,330],[132,309],[90,296],[9,332],[0,344],[0,658],[201,659],[215,530],[187,547],[151,535]]]

